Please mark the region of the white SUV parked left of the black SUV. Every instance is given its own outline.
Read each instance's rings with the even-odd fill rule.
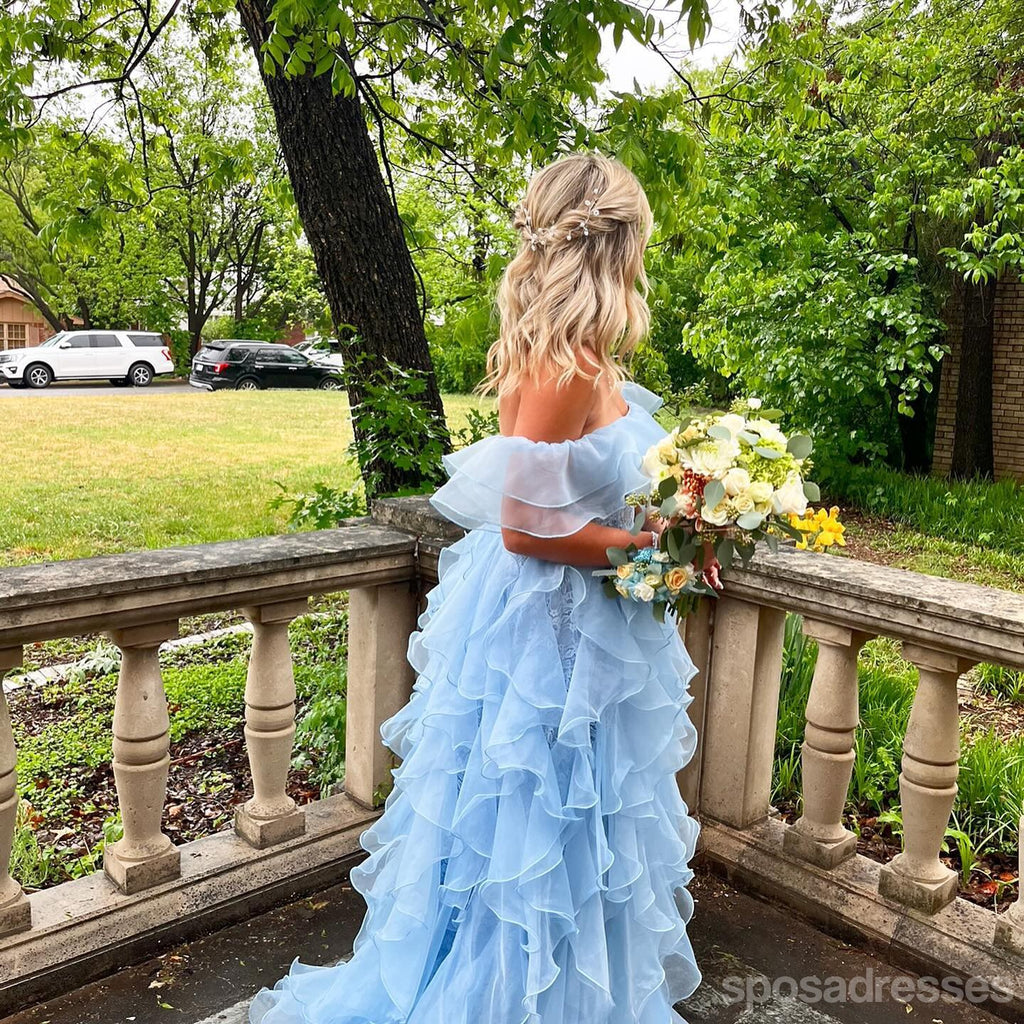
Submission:
[[[0,380],[47,387],[55,380],[109,380],[145,387],[174,370],[163,336],[151,331],[61,331],[36,348],[0,352]]]

